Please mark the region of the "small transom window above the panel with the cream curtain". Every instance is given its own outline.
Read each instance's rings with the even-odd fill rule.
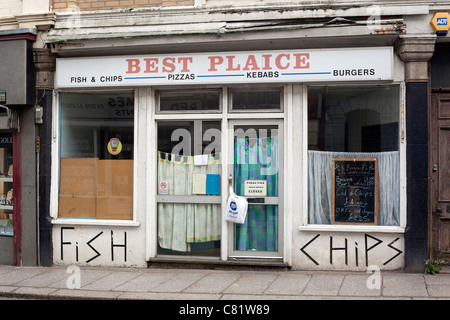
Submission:
[[[192,92],[161,91],[159,97],[160,111],[219,111],[220,92],[217,90]]]

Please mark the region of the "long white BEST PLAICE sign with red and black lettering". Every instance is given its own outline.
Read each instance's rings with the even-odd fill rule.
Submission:
[[[391,47],[59,58],[56,88],[391,80]]]

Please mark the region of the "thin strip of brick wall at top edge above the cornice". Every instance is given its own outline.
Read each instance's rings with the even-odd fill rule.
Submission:
[[[53,10],[57,12],[74,11],[77,7],[80,11],[96,11],[192,5],[194,0],[53,0]]]

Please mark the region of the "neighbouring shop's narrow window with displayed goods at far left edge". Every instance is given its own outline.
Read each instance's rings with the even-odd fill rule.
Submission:
[[[0,235],[13,235],[12,133],[0,133]]]

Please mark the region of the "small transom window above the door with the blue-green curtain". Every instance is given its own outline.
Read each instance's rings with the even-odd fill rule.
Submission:
[[[281,111],[281,93],[279,89],[261,91],[233,90],[232,111]]]

